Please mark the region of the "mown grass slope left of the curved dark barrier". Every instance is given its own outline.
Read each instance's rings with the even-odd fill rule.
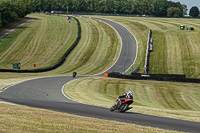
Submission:
[[[4,49],[5,53],[0,55],[3,58],[1,65],[4,68],[15,62],[20,62],[22,69],[34,69],[33,64],[36,64],[37,68],[51,66],[63,56],[75,41],[78,34],[75,20],[69,24],[66,17],[42,14],[32,14],[31,16],[35,17],[36,20],[24,25],[20,32],[16,30],[18,35],[14,41],[12,40],[13,33],[10,35],[11,38],[9,36],[4,38],[4,40],[13,41],[10,44],[12,47],[7,49],[8,52]],[[65,41],[67,38],[68,40]],[[61,43],[64,45],[61,46]]]

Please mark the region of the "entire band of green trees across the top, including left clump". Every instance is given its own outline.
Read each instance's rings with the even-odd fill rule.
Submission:
[[[0,26],[33,11],[53,10],[182,17],[187,6],[168,0],[0,0]]]

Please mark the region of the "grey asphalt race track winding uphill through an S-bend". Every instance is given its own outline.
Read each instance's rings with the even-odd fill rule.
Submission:
[[[107,72],[111,72],[113,70],[115,71],[116,69],[120,72],[124,72],[124,68],[119,69],[119,66],[130,66],[133,64],[137,55],[136,40],[133,35],[123,26],[104,19],[101,19],[101,21],[110,24],[116,29],[122,38],[123,44],[121,54],[117,62],[110,69],[108,69]],[[86,76],[77,76],[76,79],[85,77]],[[63,95],[62,87],[66,84],[66,82],[71,80],[73,80],[71,76],[60,76],[25,81],[5,88],[4,91],[0,93],[0,99],[20,105],[66,112],[80,116],[115,120],[176,131],[200,131],[200,123],[198,122],[145,115],[134,112],[110,112],[108,108],[82,104],[70,100]]]

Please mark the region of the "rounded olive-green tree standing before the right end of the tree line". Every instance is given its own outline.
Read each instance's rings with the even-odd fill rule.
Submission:
[[[173,17],[173,18],[179,18],[181,17],[181,10],[177,7],[170,7],[167,9],[167,16]]]

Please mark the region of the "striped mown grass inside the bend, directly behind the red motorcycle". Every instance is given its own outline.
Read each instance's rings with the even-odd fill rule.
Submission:
[[[200,84],[90,77],[67,83],[64,93],[79,102],[111,107],[131,90],[130,111],[200,122]]]

